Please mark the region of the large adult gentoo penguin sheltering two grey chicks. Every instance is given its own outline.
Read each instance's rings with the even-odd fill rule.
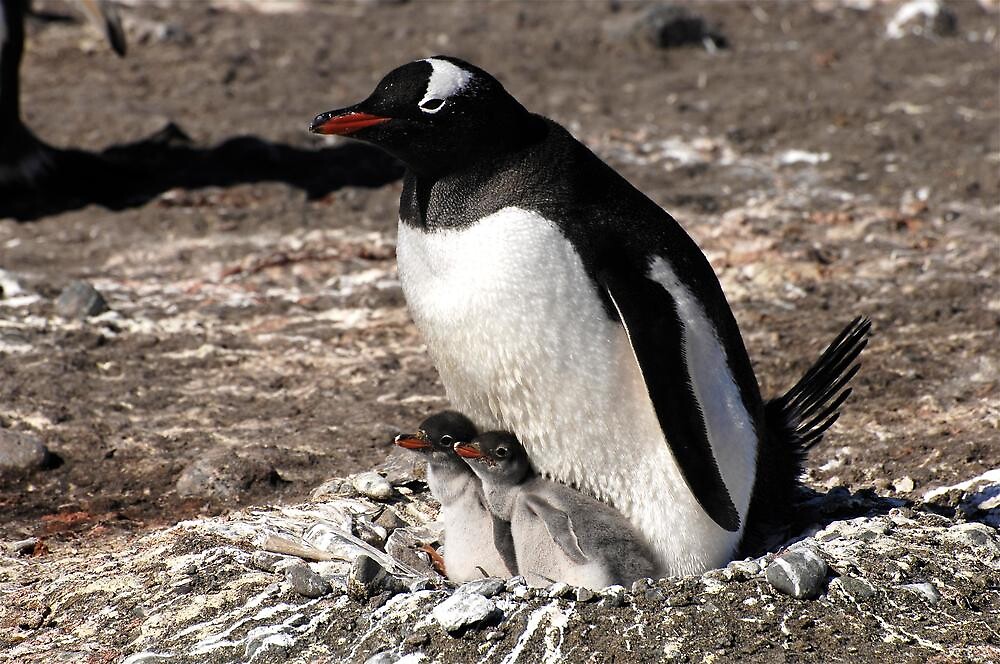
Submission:
[[[399,275],[452,405],[624,513],[662,573],[731,559],[758,467],[798,454],[799,436],[768,420],[719,281],[684,229],[456,58],[403,65],[311,130],[407,165]]]

